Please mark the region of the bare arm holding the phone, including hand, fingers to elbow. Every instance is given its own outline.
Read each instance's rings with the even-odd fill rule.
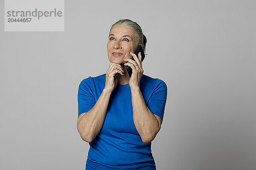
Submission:
[[[132,59],[124,59],[128,61],[124,65],[128,65],[132,68],[129,85],[131,87],[134,125],[142,141],[148,143],[153,141],[157,136],[161,128],[162,120],[149,110],[140,91],[140,79],[144,72],[141,64],[141,54],[138,54],[139,58],[134,53],[131,53],[131,55],[134,57],[135,61]]]

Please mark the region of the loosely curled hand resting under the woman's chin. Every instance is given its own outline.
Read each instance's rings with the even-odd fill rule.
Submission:
[[[122,69],[121,65],[110,62],[108,70],[106,71],[105,89],[108,89],[111,92],[114,90],[117,84],[117,77],[115,76],[116,73],[124,75],[124,70]]]

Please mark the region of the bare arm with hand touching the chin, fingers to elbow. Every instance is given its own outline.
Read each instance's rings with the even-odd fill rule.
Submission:
[[[108,70],[106,71],[105,88],[99,96],[96,104],[90,109],[90,111],[79,115],[76,127],[81,138],[85,142],[92,142],[101,130],[105,120],[111,93],[117,84],[115,74],[119,73],[124,75],[123,72],[121,65],[111,62]]]

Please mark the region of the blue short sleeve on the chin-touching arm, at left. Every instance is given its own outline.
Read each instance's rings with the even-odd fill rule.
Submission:
[[[92,77],[83,79],[80,82],[77,96],[79,116],[81,113],[90,111],[90,109],[96,104],[93,94]]]

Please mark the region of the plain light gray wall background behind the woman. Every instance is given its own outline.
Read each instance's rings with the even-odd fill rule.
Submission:
[[[108,69],[108,31],[126,18],[148,39],[144,74],[168,86],[157,170],[256,169],[255,1],[65,1],[64,32],[4,32],[3,7],[1,170],[84,169],[78,85]]]

